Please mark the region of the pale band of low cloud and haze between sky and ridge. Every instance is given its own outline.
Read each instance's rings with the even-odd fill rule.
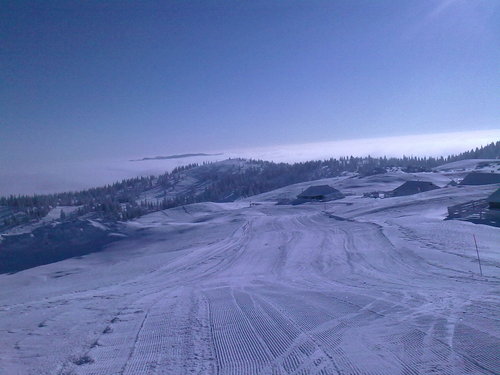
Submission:
[[[156,154],[131,154],[128,157],[94,158],[81,161],[18,162],[0,165],[0,196],[81,190],[125,178],[158,175],[190,163],[220,161],[228,158],[301,162],[351,155],[439,157],[468,151],[498,140],[500,140],[500,130],[489,130],[324,141],[239,150],[189,150],[192,153],[214,152],[217,155],[166,160],[132,161],[143,157],[173,154],[165,149]]]

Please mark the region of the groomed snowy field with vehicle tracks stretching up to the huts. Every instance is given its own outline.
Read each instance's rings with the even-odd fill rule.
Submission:
[[[498,374],[500,230],[443,221],[498,186],[362,197],[447,173],[170,209],[103,252],[0,275],[0,374]]]

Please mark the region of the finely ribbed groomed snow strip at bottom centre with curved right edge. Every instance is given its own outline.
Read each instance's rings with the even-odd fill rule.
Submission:
[[[307,335],[262,300],[220,288],[206,292],[218,374],[337,374]]]

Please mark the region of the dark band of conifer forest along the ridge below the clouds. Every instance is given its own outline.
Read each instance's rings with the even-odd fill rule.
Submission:
[[[11,214],[4,217],[0,225],[9,227],[38,220],[57,206],[79,207],[67,219],[93,213],[110,219],[129,220],[149,212],[189,203],[233,201],[298,182],[336,177],[344,172],[357,172],[366,176],[384,173],[389,167],[400,167],[403,171],[411,173],[429,171],[436,166],[458,160],[498,158],[500,158],[500,141],[458,155],[440,158],[350,156],[292,164],[249,160],[247,168],[234,167],[224,171],[214,168],[215,164],[211,163],[189,164],[160,176],[130,178],[77,192],[1,197],[0,206],[8,207]],[[206,186],[203,191],[197,192],[193,189],[174,198],[164,198],[155,202],[139,199],[141,193],[155,187],[161,189],[173,187],[185,173],[193,173],[199,181],[205,181]]]

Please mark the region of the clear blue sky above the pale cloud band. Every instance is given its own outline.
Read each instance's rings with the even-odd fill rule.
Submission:
[[[0,7],[4,165],[500,128],[496,0]]]

